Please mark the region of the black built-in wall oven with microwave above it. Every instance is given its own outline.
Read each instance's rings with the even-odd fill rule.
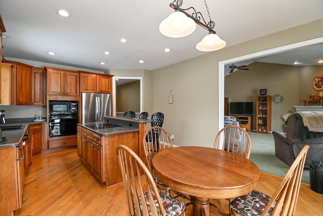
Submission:
[[[49,101],[49,137],[76,135],[78,101]]]

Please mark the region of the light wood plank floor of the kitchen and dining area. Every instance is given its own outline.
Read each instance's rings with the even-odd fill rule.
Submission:
[[[76,149],[32,158],[28,169],[23,207],[16,215],[127,215],[123,184],[105,189],[77,156]],[[261,172],[256,189],[273,194],[281,178]],[[228,213],[225,200],[211,200]],[[186,215],[191,215],[191,205]],[[296,214],[323,215],[323,194],[302,183]]]

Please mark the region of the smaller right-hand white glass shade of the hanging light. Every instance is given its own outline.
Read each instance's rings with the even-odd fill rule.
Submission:
[[[226,41],[222,40],[218,35],[209,33],[196,45],[196,49],[203,52],[210,52],[220,50],[226,44]]]

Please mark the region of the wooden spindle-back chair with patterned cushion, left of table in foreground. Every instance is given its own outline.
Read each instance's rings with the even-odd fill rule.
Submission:
[[[117,156],[127,194],[127,216],[185,215],[185,203],[158,191],[146,165],[129,147],[117,147]]]

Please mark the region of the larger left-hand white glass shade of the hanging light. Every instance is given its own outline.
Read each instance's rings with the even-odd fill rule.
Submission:
[[[184,37],[196,28],[194,20],[180,11],[175,11],[159,24],[159,31],[168,37]]]

